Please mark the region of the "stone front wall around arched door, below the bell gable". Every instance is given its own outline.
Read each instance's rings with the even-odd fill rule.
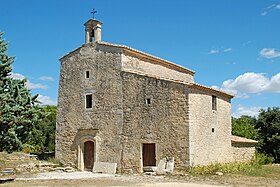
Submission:
[[[77,165],[79,129],[96,129],[95,161],[120,163],[122,127],[121,57],[117,49],[103,52],[84,45],[61,59],[56,127],[56,158]],[[85,78],[85,71],[90,77]],[[85,95],[93,94],[93,108]]]

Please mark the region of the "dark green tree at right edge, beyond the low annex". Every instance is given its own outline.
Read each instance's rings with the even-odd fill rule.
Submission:
[[[278,107],[261,110],[256,128],[260,130],[259,151],[280,162],[280,109]]]

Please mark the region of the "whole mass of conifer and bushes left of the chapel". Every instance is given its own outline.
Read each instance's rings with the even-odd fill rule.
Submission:
[[[54,151],[55,106],[39,106],[26,79],[11,77],[14,57],[7,55],[8,43],[0,33],[0,152]]]

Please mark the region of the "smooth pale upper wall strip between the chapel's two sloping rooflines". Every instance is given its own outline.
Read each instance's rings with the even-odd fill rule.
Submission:
[[[139,72],[165,79],[179,80],[183,82],[194,82],[193,75],[176,71],[161,64],[140,59],[127,54],[122,54],[122,70],[127,72]]]

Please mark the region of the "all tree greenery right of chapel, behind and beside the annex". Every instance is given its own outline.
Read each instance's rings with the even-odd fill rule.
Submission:
[[[258,141],[257,151],[280,163],[280,109],[260,110],[257,118],[232,119],[232,134]]]

